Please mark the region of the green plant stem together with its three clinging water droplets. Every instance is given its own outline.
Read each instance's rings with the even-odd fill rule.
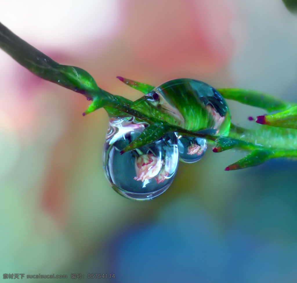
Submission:
[[[162,194],[173,182],[178,162],[200,160],[213,152],[247,152],[226,171],[255,166],[271,158],[297,157],[297,104],[246,89],[214,89],[188,78],[157,87],[118,77],[144,95],[136,101],[97,86],[79,67],[60,65],[0,23],[0,47],[42,79],[78,92],[91,101],[83,116],[104,108],[109,126],[103,147],[103,168],[114,190],[136,200]],[[255,128],[231,123],[225,99],[267,111]],[[250,118],[252,120],[252,118]]]

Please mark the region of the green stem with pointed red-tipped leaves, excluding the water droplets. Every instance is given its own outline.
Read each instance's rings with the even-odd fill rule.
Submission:
[[[296,1],[284,1],[288,7],[295,7]],[[149,124],[143,133],[132,141],[123,152],[150,144],[169,132],[207,139],[214,145],[214,152],[222,152],[231,148],[248,151],[249,153],[226,167],[225,170],[247,168],[263,163],[271,158],[297,157],[297,104],[276,99],[270,95],[245,89],[218,89],[226,99],[236,100],[250,106],[265,109],[266,116],[258,116],[258,125],[253,130],[240,128],[231,124],[227,136],[211,135],[202,131],[192,131],[180,127],[174,117],[156,112],[156,109],[136,100],[135,102],[121,96],[112,95],[99,88],[92,76],[85,70],[60,65],[51,58],[20,39],[0,23],[0,47],[22,66],[35,75],[75,92],[92,100],[89,108],[83,113],[89,114],[104,108],[110,117],[136,117]],[[118,77],[125,84],[140,90],[144,94],[154,89],[148,84]],[[271,114],[271,112],[277,113]],[[154,112],[155,113],[155,112]]]

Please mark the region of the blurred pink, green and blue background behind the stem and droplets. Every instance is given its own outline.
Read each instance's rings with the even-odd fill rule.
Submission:
[[[0,21],[131,100],[141,93],[116,76],[156,86],[195,78],[297,101],[297,17],[281,0],[2,0]],[[198,163],[180,163],[157,199],[125,199],[102,169],[105,111],[83,117],[82,95],[42,81],[1,50],[0,62],[1,279],[297,282],[295,161],[225,172],[243,154],[208,149]],[[244,127],[264,114],[228,103]]]

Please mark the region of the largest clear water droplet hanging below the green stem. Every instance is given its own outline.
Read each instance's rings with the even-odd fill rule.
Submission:
[[[110,118],[103,147],[103,168],[113,189],[129,199],[150,200],[173,182],[178,166],[177,137],[162,139],[121,154],[146,124],[132,117]]]

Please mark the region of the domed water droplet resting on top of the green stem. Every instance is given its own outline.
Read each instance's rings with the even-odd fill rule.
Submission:
[[[163,119],[169,123],[212,135],[229,132],[228,105],[222,95],[206,83],[175,79],[154,88],[144,98],[155,107],[152,111],[166,114]],[[153,115],[157,117],[156,113]]]

